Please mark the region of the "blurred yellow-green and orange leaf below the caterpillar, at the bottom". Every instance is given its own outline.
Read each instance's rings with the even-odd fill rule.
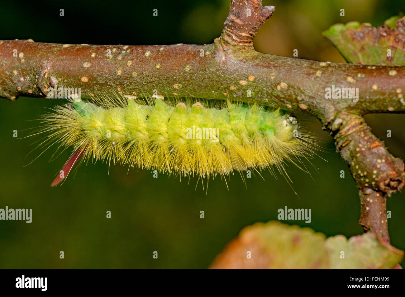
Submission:
[[[270,221],[245,227],[211,268],[393,269],[403,255],[371,232],[349,240],[343,235],[326,239],[310,228]]]

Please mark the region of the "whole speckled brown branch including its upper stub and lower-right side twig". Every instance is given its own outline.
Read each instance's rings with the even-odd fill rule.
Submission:
[[[46,97],[49,87],[60,86],[85,90],[83,98],[96,91],[143,96],[157,90],[160,95],[229,98],[306,111],[335,137],[337,151],[360,189],[362,205],[367,205],[364,197],[379,195],[378,208],[366,206],[369,210],[365,211],[362,207],[360,223],[389,240],[387,224],[381,226],[381,217],[374,212],[382,211],[386,194],[403,187],[404,164],[388,153],[361,116],[405,113],[405,67],[325,63],[258,53],[253,38],[274,9],[262,7],[260,0],[232,0],[221,36],[206,45],[3,40],[0,97]],[[358,88],[358,101],[327,99],[326,88],[332,86]]]

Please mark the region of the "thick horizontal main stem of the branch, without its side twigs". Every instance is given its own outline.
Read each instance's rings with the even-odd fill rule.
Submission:
[[[13,57],[14,49],[17,57]],[[151,94],[156,89],[162,95],[255,101],[285,110],[306,110],[324,125],[343,111],[361,115],[405,112],[401,100],[405,91],[403,66],[278,57],[258,53],[251,46],[229,47],[221,38],[208,45],[166,46],[3,40],[0,61],[0,96],[11,100],[18,96],[46,97],[47,87],[58,84],[102,90],[109,95],[132,95],[134,91]],[[358,78],[359,74],[364,77]],[[332,85],[358,88],[358,102],[326,99],[325,88]],[[88,94],[84,98],[89,98]]]

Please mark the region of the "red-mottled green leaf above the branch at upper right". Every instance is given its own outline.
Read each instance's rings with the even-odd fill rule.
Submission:
[[[355,21],[346,25],[339,23],[323,35],[348,63],[405,65],[405,17],[391,17],[378,27]]]

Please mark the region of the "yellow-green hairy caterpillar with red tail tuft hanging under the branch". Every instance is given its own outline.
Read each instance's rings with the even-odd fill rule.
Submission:
[[[62,182],[79,160],[209,179],[234,170],[284,169],[285,160],[296,164],[313,147],[297,119],[280,109],[130,97],[72,100],[43,116],[45,142],[74,148],[51,186]]]

